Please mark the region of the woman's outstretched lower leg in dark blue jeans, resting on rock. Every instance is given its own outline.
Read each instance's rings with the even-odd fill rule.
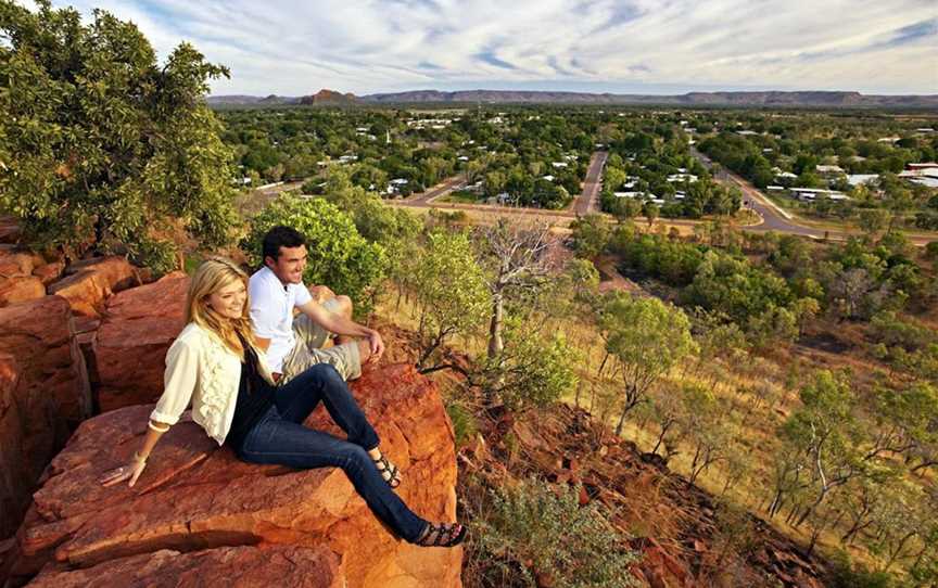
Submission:
[[[362,446],[280,419],[276,407],[248,434],[239,456],[252,463],[296,469],[342,468],[371,511],[407,541],[416,541],[427,521],[388,487]]]

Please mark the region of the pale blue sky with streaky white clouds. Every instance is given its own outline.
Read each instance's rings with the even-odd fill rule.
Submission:
[[[21,0],[26,7],[33,4]],[[189,41],[212,94],[938,93],[938,0],[74,0]]]

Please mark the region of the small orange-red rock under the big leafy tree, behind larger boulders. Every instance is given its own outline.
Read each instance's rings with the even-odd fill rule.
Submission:
[[[104,299],[136,285],[135,268],[118,256],[100,257],[73,264],[69,276],[49,286],[50,294],[62,296],[77,315],[100,316]]]

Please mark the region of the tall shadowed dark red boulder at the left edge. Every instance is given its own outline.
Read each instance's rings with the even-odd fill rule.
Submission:
[[[20,524],[69,426],[90,414],[71,316],[58,296],[0,308],[0,538]]]

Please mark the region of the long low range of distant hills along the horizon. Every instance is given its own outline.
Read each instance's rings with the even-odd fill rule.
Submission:
[[[406,104],[406,103],[479,103],[486,104],[649,104],[673,106],[815,106],[815,107],[892,107],[938,108],[938,94],[931,95],[865,95],[860,92],[688,92],[680,95],[612,94],[586,92],[464,90],[414,90],[356,97],[333,90],[291,98],[268,95],[210,97],[215,106],[265,106],[286,104]]]

